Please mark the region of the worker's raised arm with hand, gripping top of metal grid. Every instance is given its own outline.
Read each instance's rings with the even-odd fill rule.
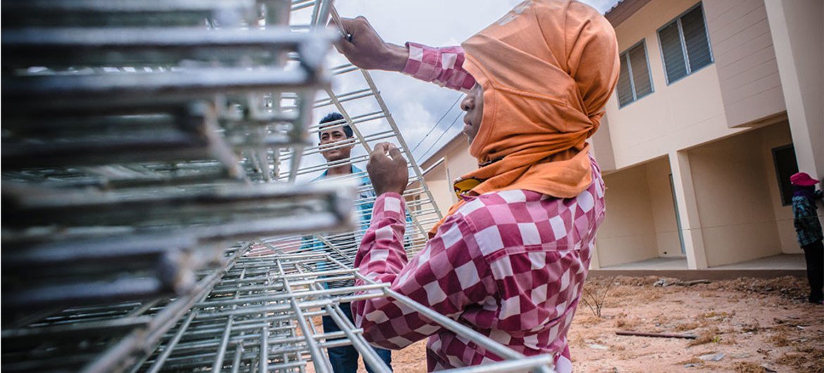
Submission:
[[[351,37],[335,44],[338,51],[358,68],[403,72],[425,82],[468,92],[475,78],[463,68],[460,46],[433,48],[424,44],[404,46],[386,43],[366,18],[341,18]]]

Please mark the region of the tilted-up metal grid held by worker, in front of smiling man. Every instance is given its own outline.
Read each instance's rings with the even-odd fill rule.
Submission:
[[[335,7],[330,7],[329,2],[293,0],[292,4],[293,30],[312,30],[325,25],[328,20],[317,16],[325,12],[330,14],[330,20],[339,18]],[[340,25],[340,22],[337,22],[337,25]],[[347,31],[343,28],[337,27],[337,29],[344,37],[347,35]],[[353,66],[340,54],[334,54],[330,59],[333,60],[333,63],[337,63],[333,68],[330,68],[334,76],[334,84],[325,88],[325,94],[318,95],[313,105],[316,113],[315,118],[321,118],[330,112],[338,112],[342,114],[344,119],[322,125],[318,123],[311,124],[309,128],[310,141],[313,144],[303,152],[303,157],[307,161],[302,162],[302,165],[297,169],[297,177],[310,180],[330,167],[350,165],[358,167],[359,172],[318,181],[319,183],[333,184],[340,180],[353,180],[358,185],[358,200],[355,206],[356,229],[353,232],[278,237],[277,240],[292,243],[292,245],[281,245],[285,249],[311,252],[322,247],[327,249],[335,259],[344,263],[352,263],[355,254],[357,254],[360,239],[368,228],[372,203],[375,202],[376,198],[372,184],[366,179],[368,178],[366,173],[368,155],[377,143],[392,142],[404,154],[408,161],[410,173],[410,188],[404,193],[407,202],[404,244],[406,252],[411,258],[424,248],[428,240],[429,229],[442,218],[442,214],[435,205],[432,193],[424,181],[422,171],[412,156],[405,139],[400,135],[398,125],[387,108],[381,92],[377,89],[372,75],[366,70]],[[353,129],[353,138],[328,144],[324,147],[319,145],[318,134],[321,128],[330,129],[343,125],[349,125]],[[342,147],[353,147],[352,156],[349,159],[327,162],[321,157],[321,152]],[[283,155],[280,159],[283,162],[291,162],[290,155]],[[284,172],[281,178],[285,179],[292,176],[291,171],[289,173]]]

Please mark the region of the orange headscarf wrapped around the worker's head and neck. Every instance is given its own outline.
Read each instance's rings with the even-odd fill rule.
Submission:
[[[484,89],[484,113],[469,149],[479,169],[456,180],[456,190],[572,198],[587,189],[585,140],[600,124],[620,68],[610,23],[574,0],[527,0],[462,46],[464,68]]]

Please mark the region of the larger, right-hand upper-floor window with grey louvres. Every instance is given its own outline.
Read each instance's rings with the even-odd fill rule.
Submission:
[[[658,29],[658,41],[661,43],[667,84],[713,62],[704,9],[700,3]]]

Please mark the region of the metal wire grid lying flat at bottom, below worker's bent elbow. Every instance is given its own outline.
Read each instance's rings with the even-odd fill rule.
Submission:
[[[238,259],[204,301],[133,372],[304,372],[309,366],[317,372],[331,372],[325,349],[345,345],[358,350],[372,371],[388,372],[389,367],[363,338],[363,329],[356,328],[340,309],[341,303],[379,296],[389,296],[505,359],[454,371],[550,372],[550,355],[524,357],[392,291],[387,283],[368,280],[323,252],[295,254],[265,241],[255,246],[258,253],[264,247],[268,250],[265,255],[253,251]],[[364,283],[323,286],[356,277]],[[323,332],[318,319],[324,315],[339,325],[339,332]]]

